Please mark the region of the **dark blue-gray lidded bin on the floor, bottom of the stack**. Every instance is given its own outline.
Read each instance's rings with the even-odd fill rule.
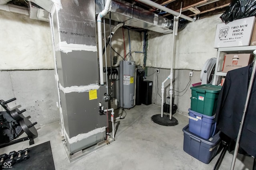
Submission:
[[[220,145],[220,131],[208,140],[189,132],[188,125],[182,131],[184,132],[183,150],[201,162],[208,164],[216,155]]]

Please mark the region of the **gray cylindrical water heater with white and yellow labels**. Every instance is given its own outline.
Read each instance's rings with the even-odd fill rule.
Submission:
[[[134,107],[135,61],[120,61],[119,106]]]

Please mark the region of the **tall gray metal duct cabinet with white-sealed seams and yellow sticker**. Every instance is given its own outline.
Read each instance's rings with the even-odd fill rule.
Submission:
[[[61,0],[51,13],[64,146],[69,155],[106,139],[106,115],[98,105],[106,86],[98,85],[94,0]]]

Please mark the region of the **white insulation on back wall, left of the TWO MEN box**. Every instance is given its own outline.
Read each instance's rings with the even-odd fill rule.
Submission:
[[[216,25],[222,23],[220,14],[188,25],[176,37],[174,69],[201,70],[204,63],[217,56],[213,48]],[[172,34],[148,33],[146,66],[170,68]]]

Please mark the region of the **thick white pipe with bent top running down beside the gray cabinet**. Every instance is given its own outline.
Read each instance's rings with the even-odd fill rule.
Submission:
[[[103,52],[102,52],[102,31],[101,31],[101,20],[102,17],[108,14],[111,0],[107,0],[104,10],[98,14],[97,25],[98,25],[98,49],[99,49],[99,64],[100,64],[100,85],[104,85],[104,74],[103,74]]]

